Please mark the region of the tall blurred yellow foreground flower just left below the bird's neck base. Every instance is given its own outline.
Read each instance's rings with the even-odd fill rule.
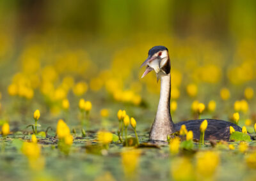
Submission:
[[[131,177],[138,168],[141,151],[138,149],[124,150],[121,153],[122,167],[127,177]]]

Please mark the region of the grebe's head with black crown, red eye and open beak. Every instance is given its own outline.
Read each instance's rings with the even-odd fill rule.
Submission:
[[[168,49],[164,46],[156,46],[148,51],[148,58],[146,59],[141,67],[146,66],[146,70],[141,76],[143,78],[150,71],[154,69],[157,75],[157,81],[161,76],[168,75],[170,73],[170,59]]]

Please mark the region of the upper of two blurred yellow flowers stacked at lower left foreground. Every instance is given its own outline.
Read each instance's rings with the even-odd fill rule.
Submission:
[[[24,142],[22,144],[22,153],[29,159],[38,159],[41,154],[41,148],[37,143]]]

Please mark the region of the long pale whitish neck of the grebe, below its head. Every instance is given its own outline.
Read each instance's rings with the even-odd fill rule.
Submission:
[[[174,132],[174,124],[170,113],[171,76],[161,76],[160,99],[156,118],[150,131],[150,140],[166,140],[168,134]]]

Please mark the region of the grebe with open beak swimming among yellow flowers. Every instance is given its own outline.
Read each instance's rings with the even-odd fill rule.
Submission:
[[[151,141],[166,141],[168,135],[180,130],[184,124],[188,131],[193,131],[195,139],[200,139],[200,124],[205,119],[186,120],[173,123],[170,113],[170,97],[171,97],[171,62],[168,53],[168,48],[164,46],[155,46],[148,51],[147,59],[141,64],[141,67],[146,66],[145,72],[141,76],[143,78],[150,71],[155,71],[158,80],[161,80],[161,90],[159,104],[157,107],[156,117],[152,124],[149,133],[149,140]],[[205,140],[224,140],[229,141],[230,126],[235,131],[241,132],[241,127],[232,122],[225,120],[206,119],[208,122],[205,130]],[[250,135],[250,134],[249,134]],[[251,136],[251,135],[250,135]],[[251,136],[251,138],[253,138]],[[253,139],[254,140],[254,139]]]

